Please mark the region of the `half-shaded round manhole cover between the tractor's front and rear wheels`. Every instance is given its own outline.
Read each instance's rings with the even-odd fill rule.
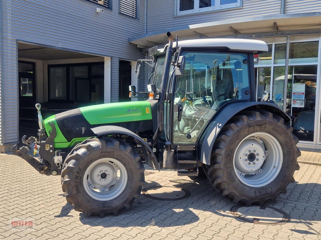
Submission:
[[[154,187],[143,190],[143,195],[157,200],[180,200],[190,195],[189,191],[183,188],[176,188],[172,186]]]

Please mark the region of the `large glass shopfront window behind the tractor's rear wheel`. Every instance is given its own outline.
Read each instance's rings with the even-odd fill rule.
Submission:
[[[315,111],[319,88],[319,41],[290,43],[287,96],[283,95],[286,43],[276,42],[268,47],[268,52],[254,56],[258,101],[268,94],[270,100],[283,108],[286,98],[286,112],[296,118],[292,125],[293,133],[301,142],[311,143],[317,137]]]

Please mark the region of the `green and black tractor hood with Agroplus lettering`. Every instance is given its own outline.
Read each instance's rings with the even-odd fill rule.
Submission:
[[[76,143],[93,137],[91,128],[102,125],[125,127],[132,132],[152,130],[152,110],[148,101],[106,103],[76,108],[58,113],[44,120],[47,135],[49,122],[54,122],[57,135],[56,148],[70,148]]]

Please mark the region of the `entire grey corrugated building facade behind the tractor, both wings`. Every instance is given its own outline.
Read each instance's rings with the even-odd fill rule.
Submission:
[[[257,97],[268,93],[280,107],[288,47],[286,110],[299,145],[321,148],[320,10],[318,0],[2,0],[0,151],[34,125],[35,102],[46,116],[129,100],[130,84],[144,90],[148,71],[137,80],[136,60],[166,43],[167,31],[265,41],[269,52],[255,56]]]

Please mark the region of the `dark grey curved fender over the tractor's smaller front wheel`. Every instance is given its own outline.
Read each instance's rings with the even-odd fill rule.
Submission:
[[[157,158],[153,153],[152,148],[140,136],[138,136],[134,132],[123,127],[110,126],[110,125],[94,127],[94,128],[91,128],[91,131],[94,132],[97,136],[110,135],[110,134],[125,134],[137,139],[141,143],[144,149],[146,164],[152,168],[155,168],[158,171],[160,170],[159,164],[157,162]]]

